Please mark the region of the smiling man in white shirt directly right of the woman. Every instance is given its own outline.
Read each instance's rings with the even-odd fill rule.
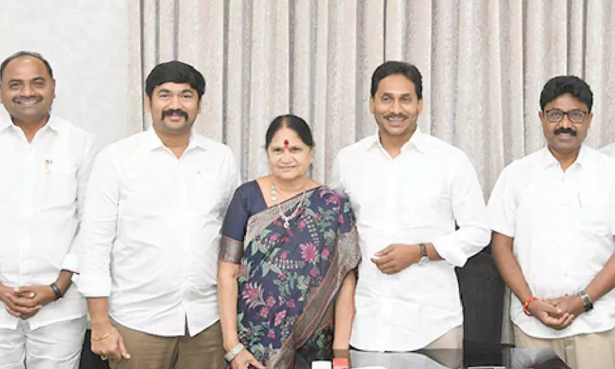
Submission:
[[[490,240],[470,160],[416,124],[422,89],[415,66],[378,66],[370,98],[378,133],[339,151],[333,164],[330,185],[349,196],[359,229],[351,345],[360,350],[461,348],[454,267]]]

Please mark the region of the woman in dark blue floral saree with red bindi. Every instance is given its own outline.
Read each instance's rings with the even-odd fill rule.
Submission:
[[[308,178],[300,117],[266,133],[271,175],[240,186],[222,228],[218,301],[232,369],[309,368],[297,352],[348,349],[360,250],[346,197]]]

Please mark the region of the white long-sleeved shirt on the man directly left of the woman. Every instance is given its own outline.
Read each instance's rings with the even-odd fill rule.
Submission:
[[[84,213],[79,290],[108,296],[133,330],[191,336],[218,319],[219,232],[239,172],[228,146],[193,133],[178,159],[153,129],[103,149]]]

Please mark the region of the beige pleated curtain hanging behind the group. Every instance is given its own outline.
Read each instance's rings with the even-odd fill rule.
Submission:
[[[267,172],[264,132],[290,112],[311,125],[313,177],[325,181],[340,148],[375,132],[370,77],[384,60],[421,70],[421,129],[469,154],[485,196],[504,165],[544,145],[538,101],[552,76],[589,82],[587,141],[615,140],[609,0],[140,0],[129,8],[131,132],[149,125],[142,86],[151,68],[191,63],[207,79],[196,130],[231,147],[245,180]]]

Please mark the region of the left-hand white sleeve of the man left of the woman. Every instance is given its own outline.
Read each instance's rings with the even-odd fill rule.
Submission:
[[[111,292],[109,263],[116,237],[119,183],[113,152],[103,149],[90,175],[82,221],[79,291],[85,297],[105,297]]]

